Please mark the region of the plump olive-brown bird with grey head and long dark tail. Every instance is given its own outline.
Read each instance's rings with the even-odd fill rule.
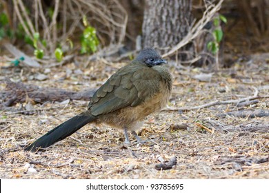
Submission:
[[[38,152],[66,139],[88,123],[106,123],[123,130],[124,144],[130,145],[128,132],[139,143],[144,141],[136,130],[143,119],[164,108],[172,90],[172,74],[167,61],[153,48],[144,48],[93,94],[85,112],[61,123],[34,141],[26,151]]]

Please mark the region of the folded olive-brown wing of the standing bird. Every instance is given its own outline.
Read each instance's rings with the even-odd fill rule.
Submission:
[[[95,92],[89,109],[92,115],[98,116],[128,106],[140,105],[159,92],[160,80],[158,72],[152,68],[121,71],[110,77]]]

